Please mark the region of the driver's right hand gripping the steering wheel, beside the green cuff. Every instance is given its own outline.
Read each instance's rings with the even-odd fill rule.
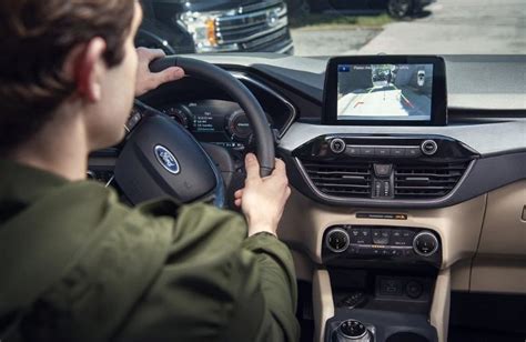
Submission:
[[[260,177],[260,164],[254,154],[245,158],[245,188],[235,192],[235,205],[241,207],[249,222],[249,237],[261,232],[276,234],[291,188],[285,163],[276,159],[271,175]]]

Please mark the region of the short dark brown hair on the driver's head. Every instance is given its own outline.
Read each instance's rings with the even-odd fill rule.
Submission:
[[[0,154],[31,138],[74,92],[61,74],[73,47],[101,37],[109,67],[124,58],[135,0],[0,1]]]

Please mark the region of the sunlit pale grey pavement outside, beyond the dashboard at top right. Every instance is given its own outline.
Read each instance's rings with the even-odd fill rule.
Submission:
[[[526,53],[526,0],[438,0],[428,11],[387,24],[357,53]]]

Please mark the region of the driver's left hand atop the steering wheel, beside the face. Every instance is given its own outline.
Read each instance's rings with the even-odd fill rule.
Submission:
[[[179,67],[164,69],[161,72],[151,72],[150,63],[159,58],[165,57],[160,49],[138,48],[139,68],[135,81],[135,97],[140,97],[150,90],[156,89],[163,83],[180,80],[184,77],[184,70]]]

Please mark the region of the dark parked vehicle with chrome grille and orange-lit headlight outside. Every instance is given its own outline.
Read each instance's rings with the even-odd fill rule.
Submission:
[[[135,39],[166,53],[292,53],[282,0],[141,0],[144,20]]]

